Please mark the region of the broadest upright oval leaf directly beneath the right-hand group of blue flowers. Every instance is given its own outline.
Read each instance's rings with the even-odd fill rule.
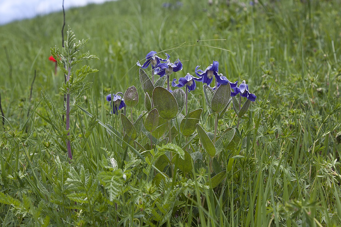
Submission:
[[[220,85],[214,93],[211,101],[211,109],[213,113],[220,113],[223,111],[231,96],[231,86],[229,83]]]

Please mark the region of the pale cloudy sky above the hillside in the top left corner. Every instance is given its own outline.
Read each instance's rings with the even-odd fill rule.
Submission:
[[[103,3],[113,0],[64,0],[64,8]],[[61,11],[63,0],[0,0],[0,25],[13,20]]]

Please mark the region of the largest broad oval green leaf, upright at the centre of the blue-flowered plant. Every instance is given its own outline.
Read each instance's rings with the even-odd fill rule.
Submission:
[[[157,86],[153,91],[154,107],[158,110],[160,117],[167,120],[173,119],[178,113],[178,104],[166,88]]]

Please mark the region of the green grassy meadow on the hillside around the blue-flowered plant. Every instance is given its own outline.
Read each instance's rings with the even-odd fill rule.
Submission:
[[[58,122],[65,127],[64,74],[58,68],[54,75],[48,60],[51,47],[61,48],[62,12],[0,27],[1,225],[340,226],[341,2],[163,3],[115,1],[65,12],[65,38],[70,25],[76,40],[90,38],[81,53],[99,58],[75,66],[98,72],[87,76],[91,88],[70,117],[71,163],[68,137],[58,131]],[[185,138],[177,130],[185,110],[169,124],[171,133],[153,138],[152,150],[145,128],[136,142],[124,139],[127,128],[106,96],[134,85],[139,101],[127,117],[138,122],[147,109],[136,62],[151,50],[181,60],[170,81],[212,61],[230,81],[246,81],[257,96],[250,110],[238,119],[231,103],[217,122],[217,140],[230,127],[233,144],[222,140],[212,156],[199,128]],[[203,109],[199,125],[214,143],[214,111],[196,85],[189,111]]]

